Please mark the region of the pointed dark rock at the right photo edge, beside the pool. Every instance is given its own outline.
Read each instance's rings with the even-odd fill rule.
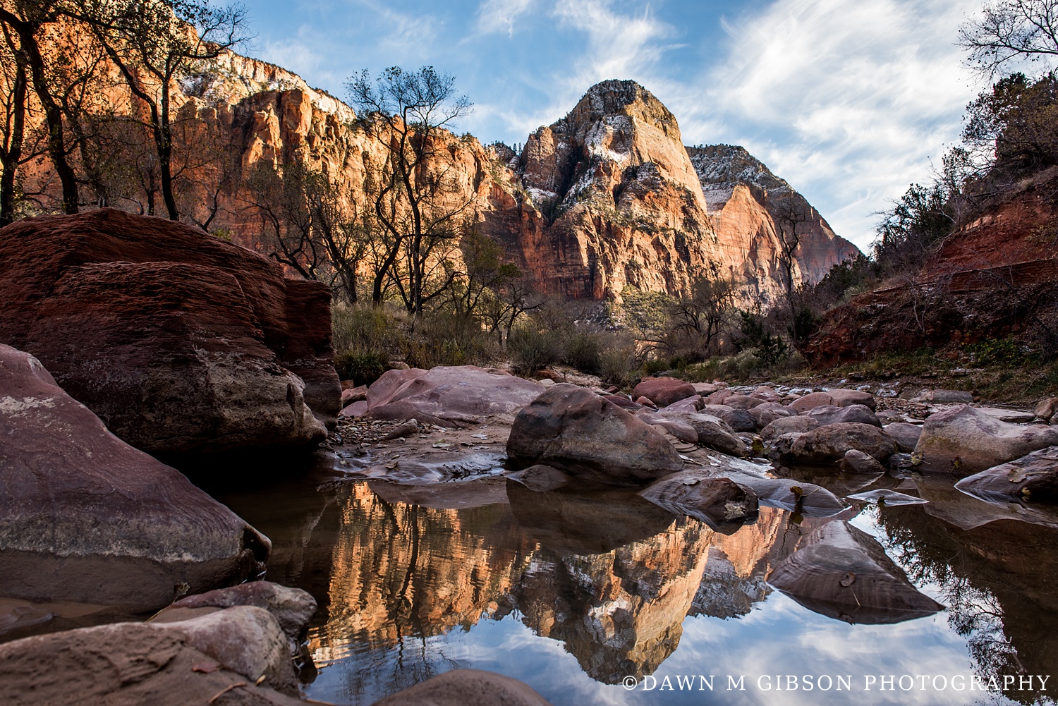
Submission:
[[[1058,446],[993,466],[955,484],[964,493],[989,502],[1058,502]]]

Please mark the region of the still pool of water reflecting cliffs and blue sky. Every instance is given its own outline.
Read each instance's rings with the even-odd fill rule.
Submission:
[[[503,478],[430,490],[317,473],[220,500],[272,539],[268,578],[320,602],[311,699],[370,704],[474,668],[557,705],[1054,703],[1058,530],[945,479],[901,483],[932,502],[834,518],[762,507],[729,533],[631,492]],[[849,485],[828,483],[862,489]],[[770,585],[823,530],[874,538],[943,609]]]

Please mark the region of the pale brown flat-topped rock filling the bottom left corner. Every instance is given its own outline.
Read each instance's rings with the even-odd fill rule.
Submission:
[[[4,704],[185,706],[225,690],[233,703],[304,703],[295,698],[287,637],[268,611],[243,605],[180,622],[118,622],[0,645]]]

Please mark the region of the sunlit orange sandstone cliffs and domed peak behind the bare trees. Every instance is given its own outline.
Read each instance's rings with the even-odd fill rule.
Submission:
[[[224,54],[183,77],[175,98],[185,143],[178,150],[181,212],[266,254],[268,214],[253,205],[249,188],[261,165],[320,170],[355,212],[367,201],[368,171],[387,158],[348,106],[264,61]],[[118,112],[135,110],[127,95],[109,101]],[[521,155],[449,132],[438,143],[440,166],[458,189],[453,198],[473,198],[479,230],[546,292],[602,300],[635,287],[675,294],[699,272],[733,276],[747,300],[780,288],[768,209],[770,195],[789,186],[745,150],[737,160],[725,157],[741,148],[689,153],[676,117],[634,82],[591,87],[569,114],[533,132]],[[48,171],[44,163],[30,175],[31,191],[47,189]],[[734,197],[716,201],[717,188]],[[146,209],[151,198],[135,193],[118,201]],[[804,205],[814,230],[796,270],[814,280],[854,249]],[[457,250],[445,255],[459,257]]]

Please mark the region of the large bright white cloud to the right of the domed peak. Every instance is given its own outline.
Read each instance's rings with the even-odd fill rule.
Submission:
[[[709,98],[685,93],[676,114],[694,141],[742,142],[864,246],[871,213],[957,140],[974,89],[953,42],[979,4],[779,0],[726,23]]]

